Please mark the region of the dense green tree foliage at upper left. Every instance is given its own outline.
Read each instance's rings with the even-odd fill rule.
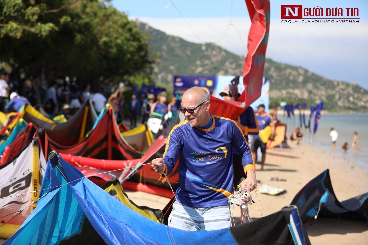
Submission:
[[[33,73],[149,74],[147,37],[98,0],[0,0],[0,59]]]

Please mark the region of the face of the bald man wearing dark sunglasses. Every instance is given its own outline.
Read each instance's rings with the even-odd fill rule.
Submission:
[[[195,108],[199,104],[201,104],[204,101],[198,101],[197,98],[193,95],[185,95],[183,96],[183,99],[181,100],[181,104],[183,105],[183,108]],[[201,104],[197,109],[194,110],[194,113],[188,113],[188,111],[185,111],[184,116],[188,120],[191,127],[201,127],[206,125],[206,115],[209,111],[210,102],[205,102]]]

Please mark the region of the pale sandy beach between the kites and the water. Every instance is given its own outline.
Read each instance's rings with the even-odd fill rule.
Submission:
[[[274,148],[269,150],[269,153],[298,158],[269,154],[266,157],[265,170],[256,171],[256,178],[261,181],[259,185],[282,187],[286,189],[286,193],[272,196],[258,192],[258,201],[255,192],[252,192],[256,202],[250,207],[252,218],[261,217],[261,210],[262,215],[266,216],[289,205],[305,184],[327,168],[330,170],[332,186],[340,202],[368,191],[366,171],[349,165],[346,160],[333,158],[331,154],[305,142],[291,147],[291,149]],[[260,164],[256,164],[256,168],[260,168]],[[270,181],[268,177],[279,177],[286,181]],[[162,196],[144,192],[126,192],[138,205],[162,209],[169,202],[169,198]],[[261,208],[258,203],[261,204]],[[237,206],[233,209],[233,217],[235,220],[240,217],[240,209]],[[367,244],[368,241],[367,222],[317,218],[307,221],[304,225],[312,244]]]

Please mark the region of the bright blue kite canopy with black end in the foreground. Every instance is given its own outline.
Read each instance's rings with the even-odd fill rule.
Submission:
[[[215,231],[171,228],[138,214],[93,184],[57,153],[47,162],[40,200],[21,228],[4,244],[63,243],[90,223],[100,244],[310,244],[296,207],[240,226]],[[47,193],[47,195],[45,195]],[[88,222],[86,223],[86,220]],[[57,224],[57,225],[50,225]],[[82,225],[83,224],[83,225]],[[93,240],[92,240],[93,239]]]

